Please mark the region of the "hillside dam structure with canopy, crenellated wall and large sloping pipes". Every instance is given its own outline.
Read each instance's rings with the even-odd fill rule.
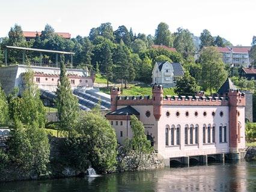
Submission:
[[[8,50],[22,52],[22,62],[9,63]],[[43,62],[43,59],[41,59],[40,62],[30,62],[28,65],[25,61],[26,52],[39,53],[40,58],[43,57],[44,53],[55,54],[55,63]],[[72,52],[6,46],[5,66],[0,67],[0,83],[5,94],[10,94],[14,87],[19,88],[19,94],[21,94],[25,88],[23,74],[28,70],[32,70],[34,72],[33,81],[40,90],[44,105],[54,106],[60,74],[59,55],[70,56],[72,61],[70,65],[67,65],[67,77],[69,77],[73,94],[78,98],[80,109],[91,110],[96,106],[100,106],[101,110],[109,110],[111,108],[110,95],[94,89],[95,75],[90,73],[87,68],[73,67],[73,55],[75,53]]]

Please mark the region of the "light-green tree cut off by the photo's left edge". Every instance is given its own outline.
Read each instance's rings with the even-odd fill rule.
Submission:
[[[1,88],[0,84],[0,126],[7,125],[8,123],[8,102],[5,97],[4,90]]]

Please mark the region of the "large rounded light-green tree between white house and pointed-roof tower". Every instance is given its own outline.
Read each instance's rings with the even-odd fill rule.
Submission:
[[[218,90],[228,76],[222,61],[222,54],[218,52],[216,47],[205,47],[201,50],[199,60],[202,68],[201,76],[203,77],[201,86],[204,91],[210,89],[212,95],[212,89]]]

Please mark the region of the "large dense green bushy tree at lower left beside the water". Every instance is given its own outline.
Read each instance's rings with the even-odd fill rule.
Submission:
[[[17,122],[10,135],[10,161],[28,176],[49,175],[50,145],[45,130]]]

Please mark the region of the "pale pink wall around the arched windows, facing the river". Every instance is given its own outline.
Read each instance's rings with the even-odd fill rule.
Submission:
[[[191,156],[191,155],[203,155],[203,154],[215,154],[217,152],[228,152],[228,107],[227,106],[162,106],[162,116],[159,119],[158,124],[158,151],[163,157],[182,157],[182,156]],[[169,111],[170,116],[166,117],[166,112]],[[176,112],[180,112],[180,116],[176,116]],[[198,112],[198,116],[195,117],[195,111]],[[216,115],[213,117],[212,112],[216,112]],[[222,117],[219,116],[219,112],[223,112]],[[189,116],[186,116],[185,113],[189,112]],[[204,116],[203,112],[206,112],[207,115]],[[194,127],[198,125],[198,144],[184,144],[184,127],[185,125],[190,127],[190,124],[193,124]],[[215,125],[215,143],[207,143],[207,129],[206,129],[206,143],[203,143],[203,125],[206,124],[206,127],[210,124],[211,127]],[[219,126],[227,126],[227,142],[219,142]],[[166,146],[165,145],[165,128],[166,125],[180,125],[180,145]],[[223,128],[222,128],[223,129]],[[169,130],[171,131],[171,130]],[[211,137],[212,137],[212,128],[211,128]],[[189,130],[188,130],[189,135]],[[169,140],[170,134],[169,134]],[[170,142],[169,142],[170,143]],[[189,143],[189,139],[188,139]],[[194,130],[194,143],[195,143],[195,130]]]

